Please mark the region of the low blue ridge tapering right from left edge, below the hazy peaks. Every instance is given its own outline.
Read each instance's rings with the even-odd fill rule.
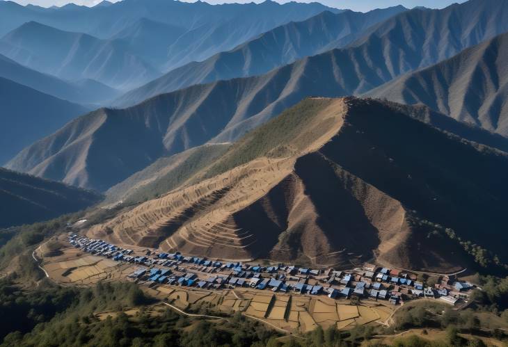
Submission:
[[[77,104],[101,104],[118,95],[118,91],[97,81],[89,79],[76,82],[63,81],[19,65],[1,54],[0,77]]]

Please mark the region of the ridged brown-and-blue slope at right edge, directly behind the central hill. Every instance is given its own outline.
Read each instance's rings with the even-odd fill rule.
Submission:
[[[425,104],[456,120],[508,136],[508,33],[367,94]]]

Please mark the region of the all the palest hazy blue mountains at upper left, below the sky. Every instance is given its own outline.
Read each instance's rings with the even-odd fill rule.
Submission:
[[[48,9],[2,1],[0,53],[61,79],[92,79],[128,90],[323,10],[338,12],[319,3],[271,1],[211,6],[128,0]]]

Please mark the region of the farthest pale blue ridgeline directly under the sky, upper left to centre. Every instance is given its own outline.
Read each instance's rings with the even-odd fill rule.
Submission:
[[[248,33],[249,29],[238,29],[253,37],[269,30],[270,27],[273,28],[292,20],[303,20],[324,10],[340,11],[321,3],[292,2],[281,5],[275,1],[264,1],[260,4],[225,3],[214,6],[205,2],[128,0],[91,8],[77,6],[74,3],[62,7],[42,8],[21,6],[13,1],[2,1],[0,3],[0,35],[5,35],[26,22],[34,21],[63,31],[87,33],[105,39],[111,38],[139,19],[146,18],[184,28],[186,31],[205,25],[209,28],[220,29],[228,24],[239,24],[250,28],[251,33]],[[239,18],[241,20],[237,20]],[[215,25],[210,26],[211,24]]]

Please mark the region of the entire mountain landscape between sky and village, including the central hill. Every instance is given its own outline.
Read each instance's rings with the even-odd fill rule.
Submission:
[[[0,227],[104,197],[83,232],[126,248],[504,266],[506,18],[508,0],[0,1]]]

